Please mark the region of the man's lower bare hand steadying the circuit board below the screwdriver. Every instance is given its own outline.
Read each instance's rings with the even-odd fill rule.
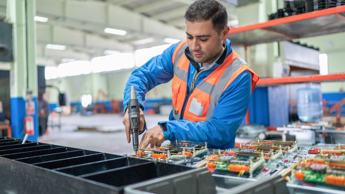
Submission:
[[[165,137],[162,129],[159,125],[155,126],[154,128],[148,129],[141,138],[139,149],[144,149],[149,144],[151,147],[157,146],[160,147],[164,142]]]

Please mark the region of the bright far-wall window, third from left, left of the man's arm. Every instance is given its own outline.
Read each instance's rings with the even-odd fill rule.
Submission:
[[[93,73],[114,71],[134,67],[134,56],[131,53],[117,53],[103,57],[94,57],[91,60]]]

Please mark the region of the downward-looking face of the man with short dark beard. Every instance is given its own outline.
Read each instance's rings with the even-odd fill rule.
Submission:
[[[203,65],[212,63],[221,54],[228,32],[229,28],[226,27],[221,34],[218,34],[214,30],[211,20],[202,22],[187,20],[187,43],[194,61]]]

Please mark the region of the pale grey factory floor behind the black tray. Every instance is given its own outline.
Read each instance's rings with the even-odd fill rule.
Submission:
[[[158,121],[168,120],[168,115],[145,115],[145,120],[150,129]],[[60,129],[58,121],[58,116],[50,116],[49,134],[39,137],[39,142],[118,155],[133,154],[132,142],[127,143],[121,114],[62,115]]]

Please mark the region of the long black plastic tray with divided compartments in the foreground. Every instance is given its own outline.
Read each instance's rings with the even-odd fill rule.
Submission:
[[[21,142],[15,138],[0,138],[0,188],[4,193],[121,194],[124,187],[131,184],[171,176],[192,176],[195,170],[204,174],[204,178],[200,179],[201,182],[195,179],[190,187],[197,191],[215,192],[214,180],[207,169]],[[209,179],[210,183],[203,182]]]

